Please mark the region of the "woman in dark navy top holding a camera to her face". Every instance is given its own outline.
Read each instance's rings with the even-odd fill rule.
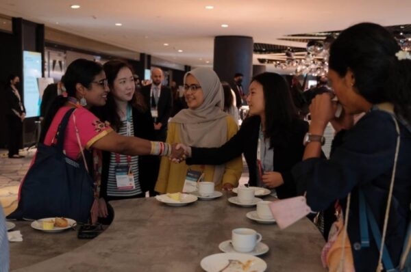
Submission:
[[[347,271],[376,271],[382,258],[378,235],[379,239],[385,236],[388,258],[384,259],[390,259],[393,267],[399,265],[410,221],[410,58],[384,27],[353,25],[340,33],[329,54],[328,79],[343,106],[342,118],[335,120],[336,105],[329,94],[316,96],[310,105],[309,132],[317,138],[328,122],[366,112],[345,133],[328,161],[319,158],[321,144],[309,135],[304,161],[292,171],[312,210],[340,200],[344,217],[348,214],[344,218],[348,236],[346,242],[341,239],[349,247]],[[375,229],[379,234],[374,234]],[[364,243],[366,230],[369,246]],[[332,251],[324,260],[330,269],[340,261],[340,254],[334,257]],[[388,270],[386,260],[383,264]]]

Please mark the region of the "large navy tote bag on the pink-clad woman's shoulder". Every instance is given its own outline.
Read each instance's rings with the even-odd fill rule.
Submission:
[[[8,219],[67,217],[88,222],[94,200],[92,178],[85,165],[66,157],[63,150],[73,111],[67,111],[58,126],[57,144],[38,144],[34,163],[21,183],[18,206]]]

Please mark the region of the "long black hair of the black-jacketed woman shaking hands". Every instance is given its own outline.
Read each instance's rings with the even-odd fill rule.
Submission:
[[[266,118],[264,137],[271,139],[272,147],[275,141],[286,141],[284,136],[292,131],[297,111],[284,77],[274,72],[263,72],[253,77],[253,81],[262,85]]]

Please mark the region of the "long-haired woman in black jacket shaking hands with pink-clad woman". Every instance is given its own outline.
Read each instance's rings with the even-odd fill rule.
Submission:
[[[190,156],[187,163],[221,164],[244,153],[250,186],[276,189],[279,198],[297,195],[290,171],[303,156],[308,124],[299,120],[286,80],[273,72],[258,74],[249,86],[247,103],[251,116],[238,133],[219,148],[184,147]]]

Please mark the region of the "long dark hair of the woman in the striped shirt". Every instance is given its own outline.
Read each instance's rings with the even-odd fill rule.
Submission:
[[[129,64],[119,59],[110,60],[103,65],[105,77],[107,78],[108,87],[110,87],[110,90],[113,90],[114,80],[117,78],[117,75],[123,68],[128,68],[132,72],[132,74],[134,74],[132,66],[129,66]],[[138,92],[138,90],[135,90],[134,96],[129,103],[131,103],[131,105],[139,111],[144,112],[148,109],[148,107],[145,106],[144,98],[140,96],[142,96],[142,94]],[[108,93],[107,103],[101,109],[99,109],[99,111],[100,113],[97,113],[97,115],[101,115],[99,116],[101,119],[110,122],[111,126],[115,130],[119,130],[122,122],[119,113],[117,113],[117,104],[114,101],[112,92]]]

